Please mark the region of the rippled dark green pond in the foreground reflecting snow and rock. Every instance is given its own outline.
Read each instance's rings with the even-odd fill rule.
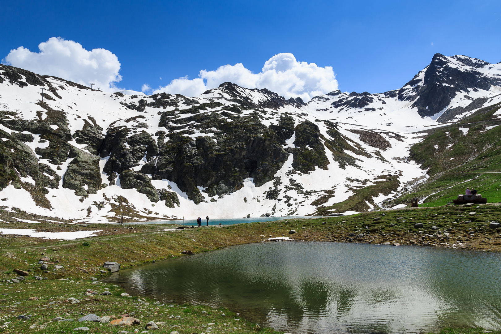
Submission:
[[[421,332],[501,325],[498,254],[266,242],[185,256],[111,279],[135,293],[226,306],[294,333]]]

